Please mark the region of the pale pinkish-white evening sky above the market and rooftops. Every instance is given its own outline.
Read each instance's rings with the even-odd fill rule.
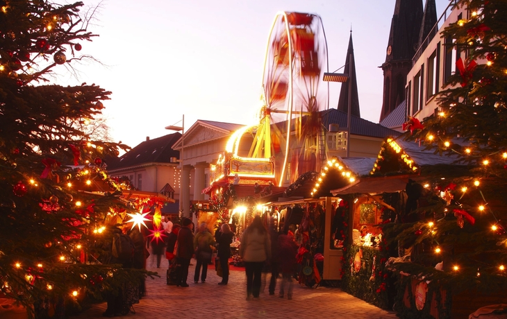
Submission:
[[[379,122],[379,66],[385,61],[395,0],[84,2],[87,8],[99,5],[88,28],[99,37],[81,43],[81,53],[102,64],[76,66],[78,80],[64,80],[113,92],[103,105],[114,141],[134,147],[146,137],[167,135],[172,131],[165,126],[183,114],[185,130],[198,119],[251,123],[260,105],[269,28],[279,11],[322,18],[329,71],[344,64],[352,28],[360,114]],[[449,0],[436,4],[440,17]],[[331,83],[330,107],[338,105],[339,94],[340,83]]]

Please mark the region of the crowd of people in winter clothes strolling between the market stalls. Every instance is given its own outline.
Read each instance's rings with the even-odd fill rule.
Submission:
[[[222,223],[215,230],[215,234],[212,234],[206,223],[200,223],[195,229],[190,218],[183,218],[178,222],[171,221],[165,216],[162,221],[165,236],[163,240],[157,241],[145,239],[138,227],[124,225],[123,229],[118,228],[117,232],[123,232],[131,239],[134,253],[128,261],[111,257],[110,262],[123,264],[125,267],[146,268],[148,249],[151,248],[151,253],[156,256],[157,268],[160,268],[164,255],[168,261],[167,284],[189,287],[188,270],[192,259],[195,259],[194,284],[206,283],[208,264],[213,264],[215,261],[217,275],[222,277],[222,281],[218,284],[227,285],[229,261],[232,257],[231,244],[234,239],[231,226],[228,223]],[[266,273],[271,273],[269,295],[275,294],[277,279],[281,277],[279,298],[286,296],[289,300],[292,299],[297,249],[298,245],[294,241],[292,232],[279,233],[273,223],[265,225],[260,216],[253,217],[250,225],[242,232],[238,250],[247,277],[247,300],[259,298]],[[216,257],[213,258],[213,256]],[[138,297],[142,298],[145,293],[144,282],[136,287],[136,291]],[[108,309],[103,313],[104,316],[119,314],[119,304],[122,301],[117,295],[117,293],[108,294]]]

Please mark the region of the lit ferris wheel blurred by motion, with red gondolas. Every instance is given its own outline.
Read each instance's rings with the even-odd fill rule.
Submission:
[[[283,163],[276,169],[279,186],[289,167],[293,182],[299,173],[319,171],[325,158],[319,111],[329,108],[329,89],[321,80],[327,69],[322,19],[308,13],[278,12],[269,31],[263,107],[249,157],[274,156]]]

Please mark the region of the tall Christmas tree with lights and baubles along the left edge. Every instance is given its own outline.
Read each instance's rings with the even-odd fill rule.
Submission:
[[[31,316],[144,277],[107,264],[112,225],[132,210],[102,161],[127,147],[88,129],[110,92],[51,84],[87,58],[93,10],[81,7],[0,1],[0,298]]]

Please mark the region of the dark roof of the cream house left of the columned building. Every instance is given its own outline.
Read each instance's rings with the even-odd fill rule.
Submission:
[[[124,169],[146,163],[170,163],[171,157],[179,158],[179,151],[173,150],[173,144],[181,137],[180,132],[175,132],[156,139],[143,141],[121,157],[108,162],[108,171]]]

